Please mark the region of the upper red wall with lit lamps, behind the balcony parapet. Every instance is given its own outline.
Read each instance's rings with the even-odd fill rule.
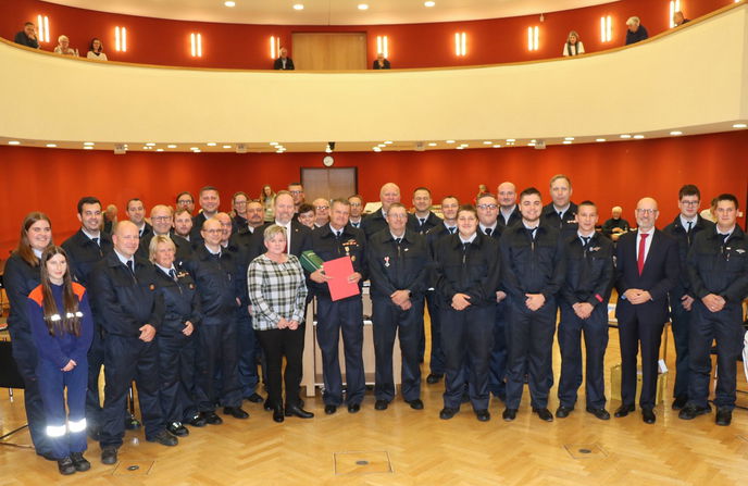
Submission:
[[[221,2],[216,2],[220,4]],[[688,17],[696,18],[733,3],[732,0],[685,0],[681,2]],[[223,8],[223,7],[221,7]],[[376,36],[388,36],[389,59],[394,67],[435,67],[453,65],[495,64],[559,57],[570,30],[577,30],[587,52],[623,45],[625,21],[638,15],[650,36],[668,29],[669,0],[621,0],[586,9],[548,13],[545,22],[539,15],[496,18],[488,21],[381,26],[269,26],[179,22],[130,15],[108,14],[90,10],[61,7],[38,0],[7,0],[0,2],[0,36],[12,39],[27,20],[36,23],[37,14],[50,21],[50,42],[45,50],[53,50],[57,37],[65,34],[71,45],[85,55],[88,41],[100,37],[110,60],[150,64],[230,67],[246,70],[270,68],[270,36],[280,36],[289,45],[295,32],[365,32],[369,64],[376,57]],[[289,12],[290,14],[290,12]],[[600,16],[611,15],[613,39],[599,40]],[[127,27],[126,53],[114,51],[114,27]],[[540,49],[527,51],[527,27],[540,26]],[[189,34],[199,32],[203,39],[203,58],[189,55]],[[454,33],[467,35],[467,55],[454,55]]]

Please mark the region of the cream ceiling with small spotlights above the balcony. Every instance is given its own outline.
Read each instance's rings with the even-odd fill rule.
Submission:
[[[608,0],[48,0],[50,3],[179,21],[272,25],[382,25],[456,22],[578,9]],[[295,3],[304,5],[294,10]],[[361,11],[359,3],[369,4]]]

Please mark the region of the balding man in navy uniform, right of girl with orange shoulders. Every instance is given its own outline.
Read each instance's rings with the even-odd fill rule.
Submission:
[[[159,403],[159,352],[153,338],[163,317],[163,302],[155,291],[155,267],[136,257],[140,238],[134,223],[117,223],[112,242],[113,251],[91,272],[91,296],[107,335],[107,385],[99,435],[104,464],[117,460],[125,435],[125,400],[133,381],[138,388],[146,439],[164,446],[177,444],[165,429]]]

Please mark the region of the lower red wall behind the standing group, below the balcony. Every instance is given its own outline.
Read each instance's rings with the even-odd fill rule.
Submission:
[[[547,184],[557,173],[574,183],[573,200],[591,199],[603,219],[615,204],[633,219],[636,201],[653,196],[660,201],[660,226],[677,214],[677,190],[697,184],[705,201],[720,192],[738,196],[746,208],[748,188],[746,132],[680,138],[632,140],[576,146],[552,146],[426,152],[341,152],[336,166],[357,166],[359,189],[366,201],[378,200],[386,182],[400,184],[403,201],[425,185],[438,202],[446,195],[472,201],[478,184],[496,190],[512,180],[521,190],[535,185],[548,202]],[[211,184],[223,195],[222,208],[230,208],[237,190],[257,197],[264,184],[277,190],[300,178],[300,167],[321,167],[319,153],[153,153],[114,155],[98,150],[63,150],[0,147],[0,256],[16,242],[18,228],[29,211],[47,212],[61,242],[75,232],[75,203],[84,195],[95,195],[103,204],[115,203],[123,217],[127,199],[139,197],[147,208],[174,203],[177,192]],[[456,171],[460,183],[454,184]]]

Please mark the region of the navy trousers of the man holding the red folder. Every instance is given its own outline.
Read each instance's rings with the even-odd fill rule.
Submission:
[[[338,341],[342,332],[346,357],[346,400],[361,403],[366,388],[363,372],[363,304],[361,297],[333,302],[327,296],[316,300],[316,340],[322,351],[322,377],[325,404],[342,403],[342,376],[338,362]]]

